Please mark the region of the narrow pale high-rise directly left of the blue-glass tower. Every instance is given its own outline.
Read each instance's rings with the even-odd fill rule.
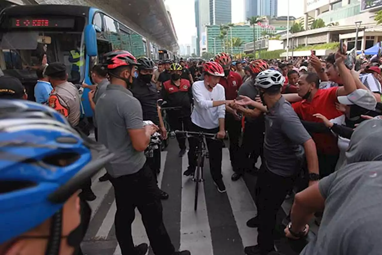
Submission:
[[[195,0],[195,25],[196,55],[201,56],[203,48],[202,34],[206,32],[206,25],[210,25],[210,0]]]

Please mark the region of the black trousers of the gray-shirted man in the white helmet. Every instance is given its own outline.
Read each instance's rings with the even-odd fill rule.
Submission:
[[[261,254],[274,250],[274,232],[276,215],[286,194],[293,187],[294,176],[282,177],[266,169],[262,164],[261,173],[256,181],[256,206],[260,225],[257,228],[257,243]]]

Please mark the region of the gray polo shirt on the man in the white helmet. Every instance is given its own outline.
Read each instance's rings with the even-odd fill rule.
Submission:
[[[311,139],[288,101],[280,100],[265,114],[264,158],[267,168],[277,175],[296,173],[304,155],[304,142]]]

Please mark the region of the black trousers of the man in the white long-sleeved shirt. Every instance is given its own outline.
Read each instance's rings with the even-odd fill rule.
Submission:
[[[191,123],[191,131],[205,132],[216,134],[219,132],[219,127],[214,129],[205,129],[199,126],[196,126],[194,123]],[[188,164],[189,169],[195,170],[197,165],[196,157],[196,147],[198,145],[198,139],[195,137],[190,137],[188,139],[190,149],[188,151]],[[210,172],[212,178],[216,181],[222,178],[222,148],[223,142],[217,140],[206,139],[207,148],[209,152],[209,162],[210,162]]]

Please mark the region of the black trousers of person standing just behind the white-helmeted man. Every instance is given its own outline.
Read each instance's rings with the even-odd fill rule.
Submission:
[[[244,173],[253,170],[259,156],[263,160],[264,128],[259,123],[246,122],[243,141],[239,150],[239,167],[235,172]]]

